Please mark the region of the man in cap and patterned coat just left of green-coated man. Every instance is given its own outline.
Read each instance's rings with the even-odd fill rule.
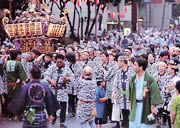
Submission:
[[[129,127],[129,101],[127,100],[127,92],[129,88],[129,80],[134,75],[134,71],[130,66],[128,66],[128,60],[126,56],[118,57],[117,73],[114,78],[113,83],[113,94],[112,97],[115,100],[114,103],[119,105],[119,109],[122,113],[122,127]],[[116,97],[116,98],[114,98]],[[120,115],[119,115],[120,116]],[[118,128],[119,122],[117,122],[116,127]]]

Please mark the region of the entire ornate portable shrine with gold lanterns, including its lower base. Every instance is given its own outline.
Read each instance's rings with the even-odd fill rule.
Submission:
[[[23,52],[29,52],[32,49],[38,49],[41,52],[53,51],[51,40],[58,40],[65,34],[68,22],[67,10],[64,10],[60,20],[49,15],[48,6],[45,3],[40,4],[38,0],[31,0],[28,10],[12,21],[4,16],[2,23],[8,37],[14,41],[16,49]]]

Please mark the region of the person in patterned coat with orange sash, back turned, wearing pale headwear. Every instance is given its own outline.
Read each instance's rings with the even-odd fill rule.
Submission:
[[[78,107],[77,118],[81,122],[81,128],[87,128],[89,123],[91,128],[96,128],[93,114],[96,100],[96,81],[92,80],[93,69],[89,66],[83,68],[83,73],[77,87]]]

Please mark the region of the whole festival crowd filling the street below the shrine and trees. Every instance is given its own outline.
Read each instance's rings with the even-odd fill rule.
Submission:
[[[81,128],[180,127],[178,30],[112,31],[53,53],[11,47],[6,40],[1,48],[0,111],[24,117],[24,128],[47,127],[46,115],[54,125],[59,108],[62,128],[67,111]]]

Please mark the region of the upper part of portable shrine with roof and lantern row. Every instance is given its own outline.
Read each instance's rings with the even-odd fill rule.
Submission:
[[[15,20],[4,16],[2,23],[10,39],[28,37],[62,38],[65,34],[67,18],[65,9],[63,16],[57,20],[49,15],[48,6],[39,0],[31,0],[28,11],[22,12]],[[7,13],[9,13],[7,11]]]

